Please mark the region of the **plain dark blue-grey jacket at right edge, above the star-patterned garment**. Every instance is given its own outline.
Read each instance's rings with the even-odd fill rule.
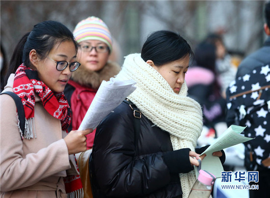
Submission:
[[[264,66],[270,63],[270,36],[264,46],[248,55],[238,66],[236,79],[250,73],[257,66]]]

